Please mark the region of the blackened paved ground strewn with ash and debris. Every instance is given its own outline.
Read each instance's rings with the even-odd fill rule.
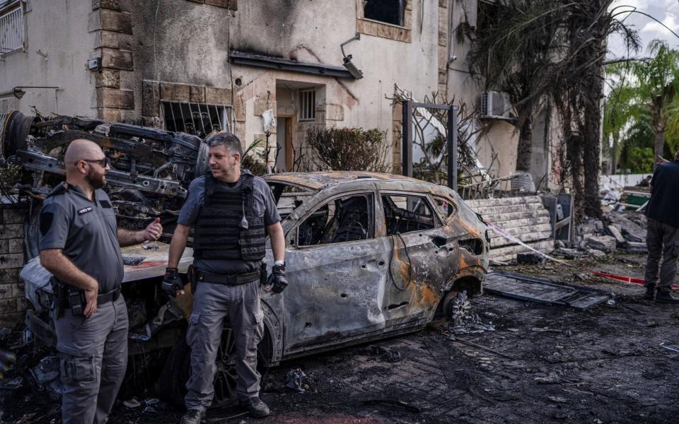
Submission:
[[[612,290],[620,303],[583,312],[484,295],[472,300],[472,312],[495,331],[451,340],[442,319],[417,334],[284,363],[269,372],[262,393],[274,416],[255,421],[224,408],[209,411],[207,423],[675,422],[679,354],[660,344],[679,345],[679,307],[642,300],[637,285],[574,276],[584,267],[641,276],[643,261],[622,255],[577,269],[505,269]],[[295,368],[306,373],[303,393],[282,388]],[[42,398],[24,394],[6,422],[26,413],[35,415],[22,423],[56,422],[54,404]],[[118,405],[110,422],[179,417],[162,404],[145,412]]]

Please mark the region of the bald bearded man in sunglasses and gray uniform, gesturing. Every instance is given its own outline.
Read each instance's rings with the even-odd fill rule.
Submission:
[[[109,162],[92,141],[72,141],[66,181],[40,211],[40,263],[54,278],[54,326],[64,382],[64,424],[105,423],[127,368],[127,307],[120,295],[121,246],[158,240],[156,218],[145,230],[117,228],[106,192]]]

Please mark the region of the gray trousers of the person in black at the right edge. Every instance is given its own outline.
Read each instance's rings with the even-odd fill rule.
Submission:
[[[663,224],[649,218],[646,229],[646,247],[649,257],[646,260],[644,285],[668,292],[677,278],[677,257],[679,257],[679,228]],[[662,263],[661,263],[662,257]],[[658,268],[660,279],[658,281]]]

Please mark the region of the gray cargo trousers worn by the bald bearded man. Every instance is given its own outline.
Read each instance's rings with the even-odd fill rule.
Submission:
[[[64,382],[64,424],[108,420],[127,370],[127,306],[122,295],[97,307],[89,318],[64,310],[54,317]]]

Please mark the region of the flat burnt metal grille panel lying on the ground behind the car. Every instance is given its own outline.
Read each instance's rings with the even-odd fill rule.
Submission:
[[[612,293],[575,285],[557,284],[544,278],[494,271],[484,281],[487,293],[505,298],[564,305],[586,310],[614,298]]]

